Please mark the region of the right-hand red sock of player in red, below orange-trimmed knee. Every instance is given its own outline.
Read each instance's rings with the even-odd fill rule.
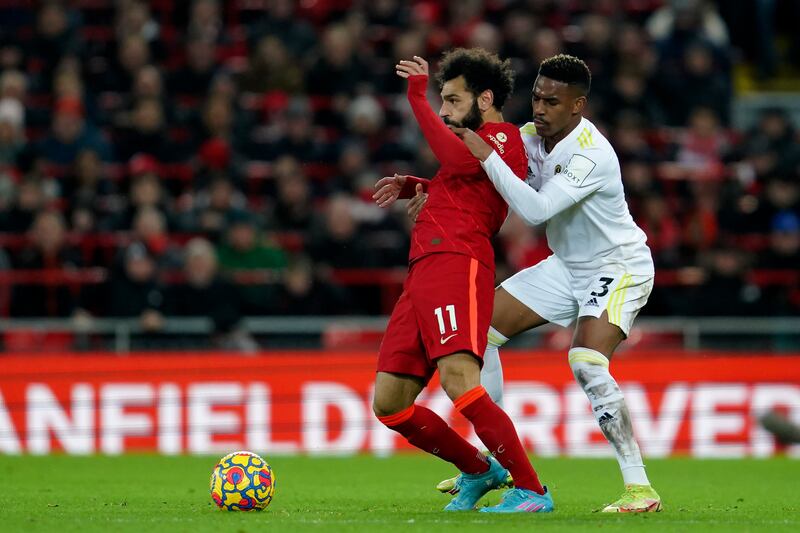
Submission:
[[[514,478],[514,486],[544,494],[544,487],[533,469],[514,423],[489,398],[483,387],[465,392],[453,402],[464,417],[472,422],[475,433],[498,462]]]

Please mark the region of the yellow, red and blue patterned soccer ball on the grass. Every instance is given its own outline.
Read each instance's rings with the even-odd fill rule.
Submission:
[[[211,499],[225,511],[262,511],[275,494],[275,474],[250,452],[233,452],[211,472]]]

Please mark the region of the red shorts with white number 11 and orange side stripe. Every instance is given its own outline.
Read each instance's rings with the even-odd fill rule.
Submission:
[[[415,261],[381,342],[378,372],[428,380],[436,359],[470,352],[483,364],[492,320],[494,271],[467,255]]]

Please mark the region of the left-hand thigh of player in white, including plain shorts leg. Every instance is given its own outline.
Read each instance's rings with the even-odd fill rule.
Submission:
[[[569,326],[577,312],[569,272],[551,255],[500,284],[492,326],[511,337],[548,322]]]

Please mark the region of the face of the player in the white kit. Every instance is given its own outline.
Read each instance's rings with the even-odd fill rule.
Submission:
[[[583,108],[585,98],[566,83],[539,76],[533,84],[533,123],[541,137],[552,137]]]

